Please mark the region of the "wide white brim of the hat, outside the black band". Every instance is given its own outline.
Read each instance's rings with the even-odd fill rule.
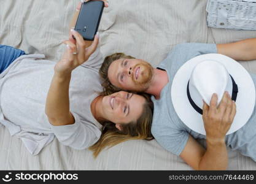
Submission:
[[[193,109],[187,98],[187,84],[196,64],[207,59],[214,59],[222,63],[238,85],[236,98],[236,115],[227,132],[231,134],[244,126],[249,120],[255,106],[255,86],[250,74],[232,58],[221,54],[206,54],[196,56],[183,64],[173,79],[171,86],[171,99],[174,109],[180,120],[195,132],[206,135],[202,115]]]

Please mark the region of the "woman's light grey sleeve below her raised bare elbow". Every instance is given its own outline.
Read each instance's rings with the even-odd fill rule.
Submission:
[[[72,125],[52,126],[52,131],[56,138],[64,145],[68,145],[77,150],[82,150],[95,144],[101,132],[90,123],[80,120],[79,115],[72,113],[75,123]]]

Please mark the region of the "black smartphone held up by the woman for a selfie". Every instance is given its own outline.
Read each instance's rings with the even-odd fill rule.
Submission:
[[[103,1],[83,2],[77,18],[75,30],[83,36],[84,40],[94,39],[99,28],[103,9]]]

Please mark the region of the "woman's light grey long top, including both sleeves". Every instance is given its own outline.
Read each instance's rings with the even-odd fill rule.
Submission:
[[[45,101],[55,62],[44,55],[23,55],[0,74],[0,123],[18,136],[36,155],[56,138],[76,149],[88,148],[101,136],[101,125],[90,104],[102,91],[98,69],[103,57],[96,50],[88,61],[72,71],[69,85],[70,109],[75,123],[53,126],[45,115]]]

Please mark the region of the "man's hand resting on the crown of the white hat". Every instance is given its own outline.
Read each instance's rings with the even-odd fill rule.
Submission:
[[[225,142],[225,136],[236,115],[236,104],[230,95],[225,92],[222,101],[217,107],[217,94],[213,94],[208,106],[203,105],[203,121],[206,130],[206,140],[215,144]]]

